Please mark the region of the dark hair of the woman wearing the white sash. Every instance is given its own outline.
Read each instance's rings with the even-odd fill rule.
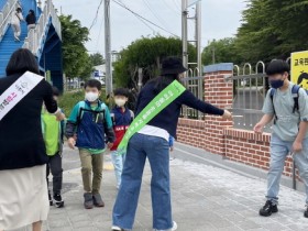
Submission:
[[[6,72],[7,76],[14,74],[23,75],[25,72],[40,74],[35,56],[26,48],[20,48],[12,54]]]

